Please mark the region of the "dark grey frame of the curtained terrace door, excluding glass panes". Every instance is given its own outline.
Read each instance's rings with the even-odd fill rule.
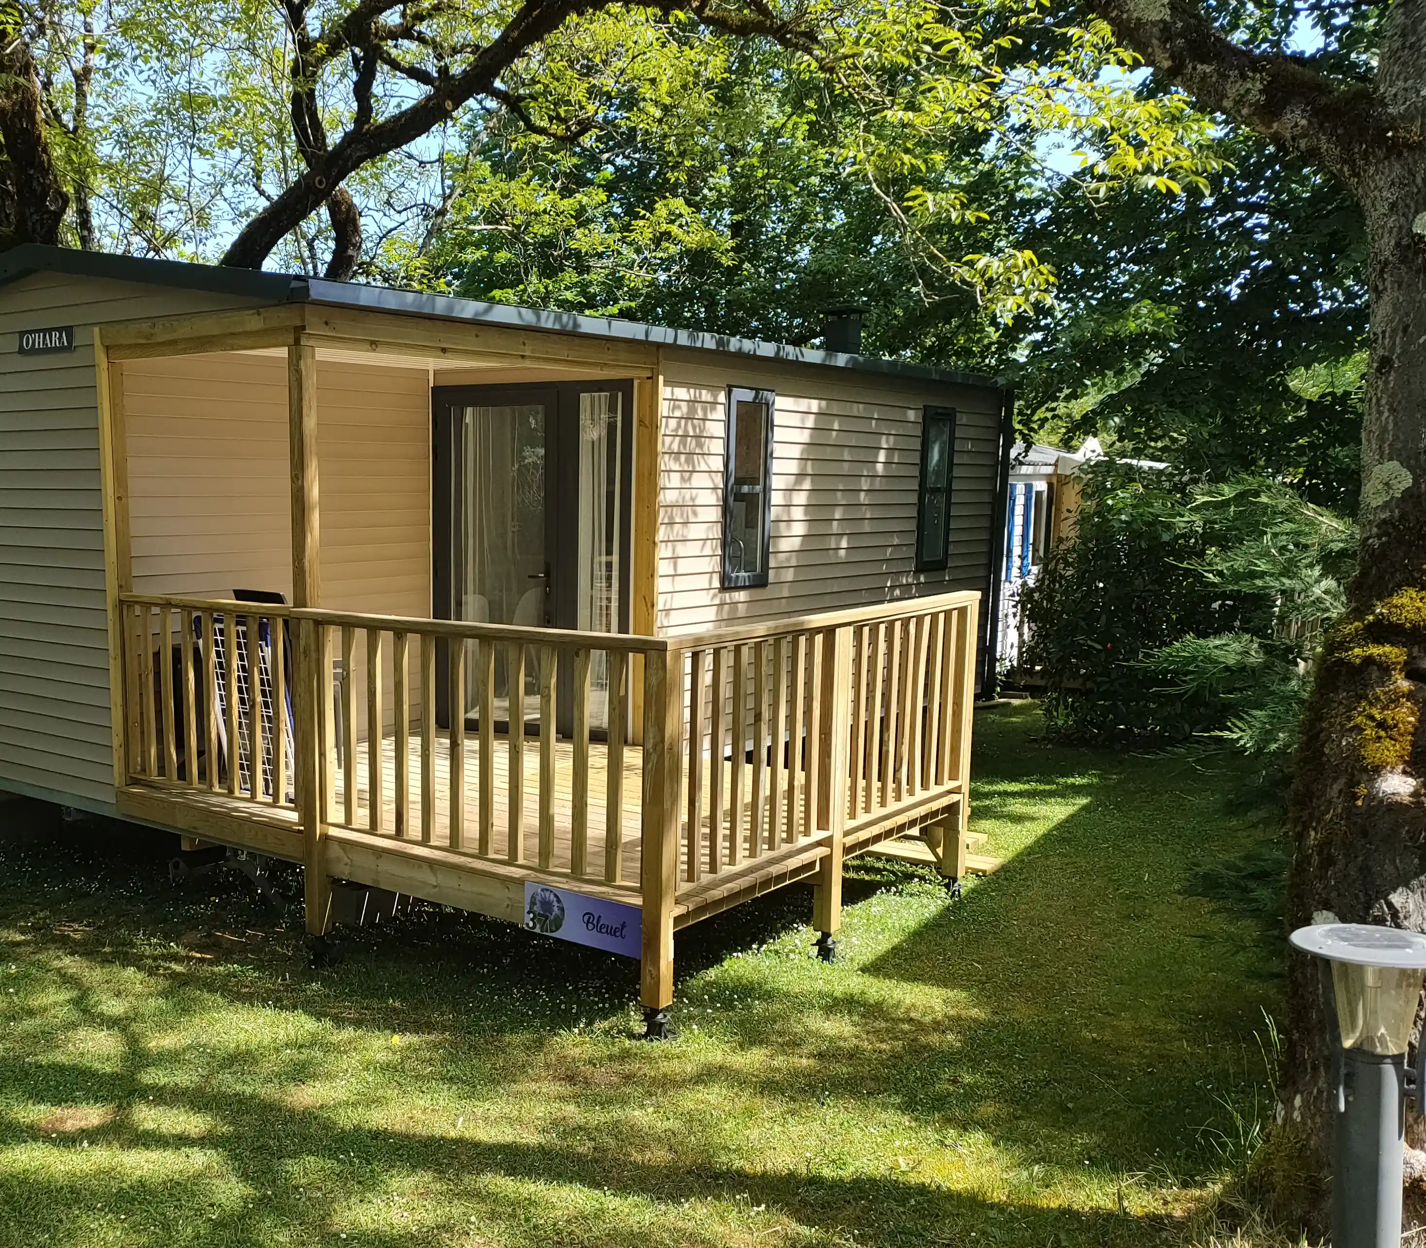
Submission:
[[[502,404],[545,402],[545,626],[573,629],[578,622],[579,589],[579,395],[589,391],[619,392],[623,397],[620,431],[619,606],[616,628],[629,632],[633,589],[633,381],[592,378],[589,381],[511,382],[501,385],[438,385],[431,388],[431,598],[435,619],[455,619],[455,545],[461,528],[455,508],[463,496],[459,479],[463,455],[458,408]],[[436,643],[436,723],[451,725],[449,646]],[[570,663],[560,660],[558,719],[568,730],[572,693]],[[475,727],[475,720],[466,720]],[[496,722],[496,732],[509,730]],[[526,727],[526,732],[530,729]]]

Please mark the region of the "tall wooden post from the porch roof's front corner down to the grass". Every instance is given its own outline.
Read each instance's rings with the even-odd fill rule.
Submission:
[[[321,606],[322,549],[317,492],[317,348],[287,348],[288,452],[292,485],[292,602]],[[327,824],[322,822],[322,733],[327,629],[298,620],[297,687],[292,690],[297,747],[297,804],[302,823],[302,891],[307,931],[321,940],[332,921],[332,881],[327,874]],[[348,743],[348,749],[351,745]]]

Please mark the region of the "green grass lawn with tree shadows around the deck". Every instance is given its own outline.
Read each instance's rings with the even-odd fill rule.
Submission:
[[[1278,833],[1038,726],[975,719],[995,876],[853,864],[833,966],[806,889],[680,934],[663,1045],[620,958],[421,907],[314,973],[170,840],[3,806],[0,1245],[1189,1242],[1271,1113]]]

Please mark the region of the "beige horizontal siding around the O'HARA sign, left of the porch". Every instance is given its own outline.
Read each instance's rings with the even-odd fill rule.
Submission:
[[[0,287],[0,789],[114,804],[93,327],[251,301],[34,274]],[[76,327],[20,355],[19,331]]]

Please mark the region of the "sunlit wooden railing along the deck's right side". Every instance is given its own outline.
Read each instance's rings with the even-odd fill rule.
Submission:
[[[977,599],[944,595],[674,639],[687,689],[682,881],[958,792]]]

